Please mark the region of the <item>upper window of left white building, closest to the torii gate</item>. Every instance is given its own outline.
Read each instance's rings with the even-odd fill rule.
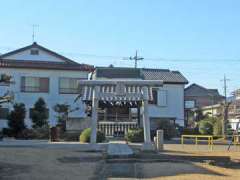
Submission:
[[[79,78],[60,78],[59,79],[59,93],[60,94],[80,94],[82,88],[79,88]]]

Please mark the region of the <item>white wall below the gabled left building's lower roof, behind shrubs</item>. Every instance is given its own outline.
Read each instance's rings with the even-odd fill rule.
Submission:
[[[44,98],[49,108],[49,121],[50,125],[56,124],[56,113],[52,107],[57,103],[68,103],[71,108],[79,107],[80,109],[74,113],[70,113],[69,117],[84,117],[84,105],[81,101],[73,103],[76,98],[76,94],[59,94],[59,77],[71,77],[71,78],[88,78],[88,72],[81,71],[64,71],[64,70],[31,70],[31,69],[11,69],[0,68],[1,74],[7,74],[13,76],[14,84],[10,86],[0,85],[0,95],[4,94],[7,90],[13,91],[15,94],[15,102],[23,102],[27,109],[26,124],[31,126],[31,120],[29,118],[29,108],[32,108],[34,103],[39,97]],[[48,77],[49,78],[49,93],[25,93],[20,91],[20,79],[21,76],[33,76],[33,77]],[[11,108],[11,105],[5,104]],[[6,122],[0,120],[1,126],[6,126]]]

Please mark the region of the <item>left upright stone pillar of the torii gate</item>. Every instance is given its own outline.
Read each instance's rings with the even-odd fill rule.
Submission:
[[[97,143],[97,120],[98,120],[98,92],[99,86],[93,88],[93,99],[92,99],[92,121],[91,121],[91,138],[90,143]]]

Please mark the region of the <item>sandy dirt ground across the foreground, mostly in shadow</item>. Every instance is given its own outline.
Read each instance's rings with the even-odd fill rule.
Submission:
[[[207,157],[219,160],[216,163]],[[221,158],[230,161],[221,163],[224,161]],[[161,154],[144,154],[135,159],[115,160],[106,159],[102,152],[80,152],[77,148],[0,146],[1,180],[120,178],[237,180],[240,179],[240,152],[169,150]]]

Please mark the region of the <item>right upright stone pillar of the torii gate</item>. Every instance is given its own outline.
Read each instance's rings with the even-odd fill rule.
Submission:
[[[150,135],[150,120],[148,112],[148,87],[143,87],[143,129],[144,129],[144,144],[143,150],[154,150],[154,145],[151,142]]]

